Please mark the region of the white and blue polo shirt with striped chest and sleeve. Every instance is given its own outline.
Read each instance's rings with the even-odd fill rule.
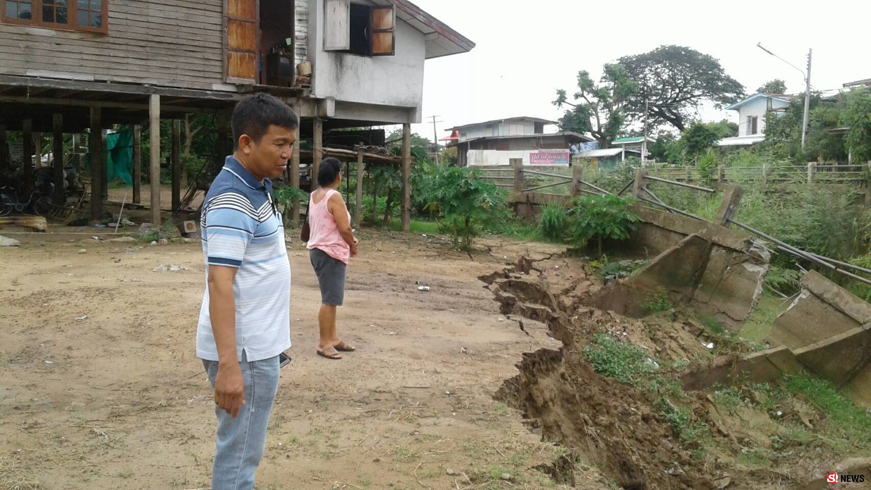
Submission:
[[[269,359],[290,347],[290,263],[272,182],[260,183],[233,157],[203,202],[200,229],[206,257],[206,294],[199,310],[197,357],[218,360],[209,318],[209,267],[236,267],[236,354]]]

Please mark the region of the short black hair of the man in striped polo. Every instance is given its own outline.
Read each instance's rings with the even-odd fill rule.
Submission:
[[[264,93],[242,99],[233,109],[233,150],[239,149],[239,138],[246,134],[260,143],[270,125],[287,130],[300,127],[300,119],[287,104]]]

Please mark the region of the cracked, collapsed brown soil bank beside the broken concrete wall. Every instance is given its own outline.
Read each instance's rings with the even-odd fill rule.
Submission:
[[[661,410],[654,408],[658,403],[671,404],[661,393],[596,373],[584,358],[584,347],[591,345],[597,333],[607,333],[640,346],[654,364],[652,359],[671,361],[670,365],[712,359],[706,347],[709,332],[697,321],[679,319],[681,315],[674,311],[631,319],[588,306],[591,297],[601,299],[612,288],[602,285],[577,260],[521,258],[517,265],[481,279],[490,285],[503,314],[543,322],[564,345],[558,351],[525,353],[517,365],[520,374],[506,380],[496,393],[497,399],[523,413],[530,430],[541,433],[544,440],[570,449],[572,458],[595,465],[622,488],[732,489],[759,487],[760,483],[793,487],[781,473],[741,469],[729,460],[699,457],[699,441],[679,437]],[[679,384],[679,373],[669,369],[663,366],[658,376]],[[711,427],[714,437],[730,444],[741,438],[757,443],[743,432],[726,438],[728,424],[706,393],[681,396],[692,420]],[[762,444],[768,436],[760,437]],[[741,446],[736,444],[739,452]],[[571,485],[576,484],[576,469],[568,460],[546,468],[555,480]]]

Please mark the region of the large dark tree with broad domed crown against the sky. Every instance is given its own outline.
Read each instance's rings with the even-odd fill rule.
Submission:
[[[744,86],[726,74],[711,55],[685,46],[664,45],[640,55],[618,60],[638,91],[626,100],[625,109],[640,120],[649,100],[650,124],[672,124],[685,131],[692,111],[702,102],[720,109],[744,97]]]

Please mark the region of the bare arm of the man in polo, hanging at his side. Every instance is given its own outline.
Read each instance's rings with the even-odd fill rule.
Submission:
[[[235,267],[209,266],[209,318],[218,350],[215,404],[233,419],[245,405],[245,382],[236,355],[236,301],[233,298]]]

